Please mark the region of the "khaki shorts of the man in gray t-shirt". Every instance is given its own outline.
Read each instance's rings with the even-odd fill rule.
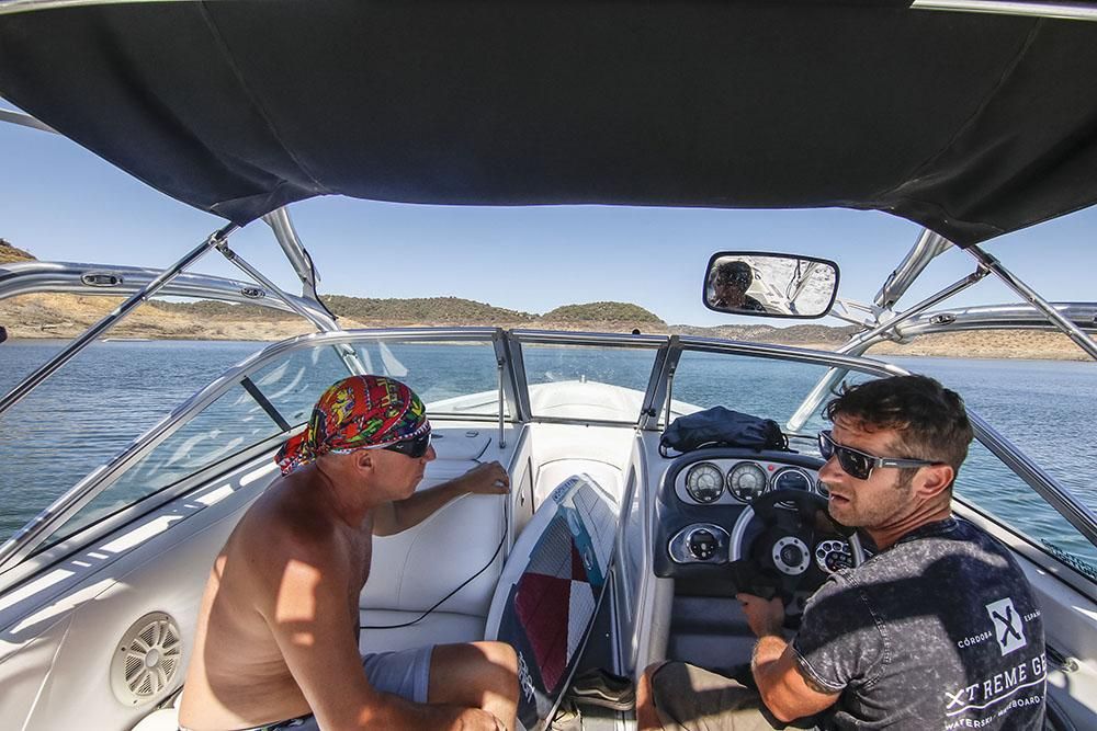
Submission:
[[[762,705],[747,666],[721,675],[683,662],[666,662],[652,675],[652,695],[667,731],[816,728],[812,719],[788,724],[777,720]]]

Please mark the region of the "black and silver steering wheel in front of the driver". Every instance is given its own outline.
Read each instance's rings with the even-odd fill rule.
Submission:
[[[751,540],[747,533],[755,523],[761,532],[753,532]],[[813,593],[832,573],[864,562],[857,534],[830,517],[826,498],[802,490],[756,498],[732,528],[728,553],[739,591],[780,595],[789,608],[795,596]]]

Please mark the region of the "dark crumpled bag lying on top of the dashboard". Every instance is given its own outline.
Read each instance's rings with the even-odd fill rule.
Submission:
[[[704,446],[783,452],[789,448],[789,439],[772,419],[712,407],[675,419],[659,439],[659,454],[667,457],[669,449],[685,453]]]

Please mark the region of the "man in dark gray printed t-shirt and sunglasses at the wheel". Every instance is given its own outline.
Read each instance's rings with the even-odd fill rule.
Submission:
[[[780,598],[738,594],[758,636],[749,677],[652,665],[638,728],[1042,729],[1040,609],[1010,552],[950,507],[972,439],[963,401],[897,376],[844,389],[825,414],[829,513],[877,555],[819,587],[791,642]]]

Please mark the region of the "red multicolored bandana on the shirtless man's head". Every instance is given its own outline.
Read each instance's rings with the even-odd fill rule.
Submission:
[[[385,447],[428,432],[427,409],[410,388],[384,376],[351,376],[324,391],[308,426],[282,445],[274,461],[289,475],[332,452]]]

